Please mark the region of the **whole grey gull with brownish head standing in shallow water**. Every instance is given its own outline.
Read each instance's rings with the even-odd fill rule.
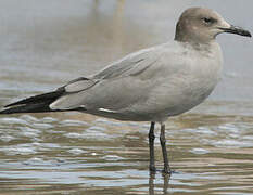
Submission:
[[[222,76],[218,34],[251,37],[216,12],[192,8],[180,16],[175,40],[131,53],[98,74],[75,79],[53,92],[28,98],[0,114],[79,110],[119,120],[151,121],[150,170],[154,122],[161,123],[164,172],[169,172],[164,121],[203,102]]]

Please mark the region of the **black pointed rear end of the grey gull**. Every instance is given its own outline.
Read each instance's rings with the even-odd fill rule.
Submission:
[[[59,89],[53,92],[43,93],[14,102],[5,105],[5,109],[0,110],[0,114],[60,112],[56,109],[51,109],[49,105],[62,96],[64,92],[65,91],[63,89]]]

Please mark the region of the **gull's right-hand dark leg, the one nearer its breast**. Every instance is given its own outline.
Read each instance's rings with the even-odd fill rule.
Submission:
[[[164,161],[164,173],[170,173],[170,168],[168,165],[168,156],[167,156],[167,150],[166,150],[166,139],[165,139],[165,125],[162,123],[161,126],[161,134],[160,134],[160,143],[162,146],[163,152],[163,161]]]

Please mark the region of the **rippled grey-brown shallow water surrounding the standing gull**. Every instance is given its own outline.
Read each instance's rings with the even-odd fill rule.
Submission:
[[[173,39],[188,6],[215,9],[253,31],[252,2],[219,3],[2,0],[0,106]],[[149,174],[148,122],[78,113],[5,115],[0,194],[253,194],[253,44],[231,35],[218,41],[224,79],[208,101],[166,123],[170,178]],[[159,139],[155,158],[162,169]]]

